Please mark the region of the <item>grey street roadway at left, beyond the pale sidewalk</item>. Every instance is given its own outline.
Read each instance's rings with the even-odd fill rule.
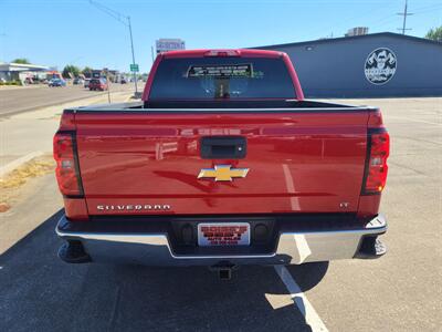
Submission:
[[[112,84],[110,92],[134,90],[134,84]],[[83,85],[69,85],[63,87],[21,87],[0,90],[0,117],[27,112],[30,110],[57,105],[82,98],[107,94],[107,91],[90,91]]]

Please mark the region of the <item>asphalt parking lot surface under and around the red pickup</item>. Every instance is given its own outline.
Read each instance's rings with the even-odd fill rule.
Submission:
[[[344,102],[380,106],[391,135],[385,257],[290,267],[297,293],[270,267],[220,281],[206,268],[66,264],[46,175],[0,215],[0,331],[440,331],[442,98]]]

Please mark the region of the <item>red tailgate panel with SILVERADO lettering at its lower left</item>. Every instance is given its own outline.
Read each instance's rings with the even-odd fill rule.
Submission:
[[[77,112],[90,215],[358,209],[369,111],[218,111]],[[208,136],[244,137],[245,157],[202,158],[201,138]],[[201,169],[219,165],[249,173],[232,181],[198,178]]]

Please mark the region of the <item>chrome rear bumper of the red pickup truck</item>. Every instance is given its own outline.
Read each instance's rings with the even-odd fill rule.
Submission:
[[[66,222],[70,221],[65,217],[59,221],[55,229],[57,236],[71,242],[80,241],[92,261],[146,266],[213,266],[220,261],[232,264],[301,264],[367,258],[367,252],[360,255],[362,242],[387,231],[387,221],[379,215],[360,229],[282,232],[272,253],[192,256],[175,253],[167,232],[78,232],[66,230]],[[61,258],[66,260],[63,255]]]

